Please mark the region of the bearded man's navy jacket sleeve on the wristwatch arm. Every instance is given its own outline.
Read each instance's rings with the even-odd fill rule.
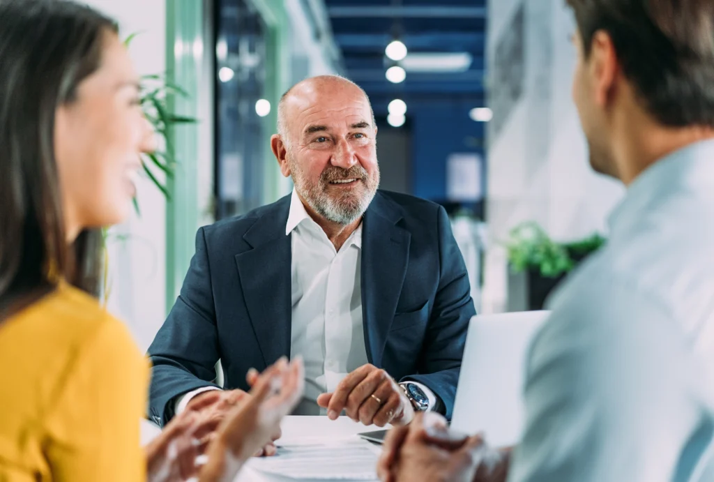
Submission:
[[[468,322],[476,310],[466,265],[443,207],[438,209],[437,219],[439,284],[424,336],[419,373],[404,380],[418,381],[431,388],[443,403],[441,411],[451,419]]]

